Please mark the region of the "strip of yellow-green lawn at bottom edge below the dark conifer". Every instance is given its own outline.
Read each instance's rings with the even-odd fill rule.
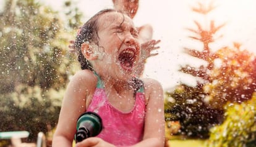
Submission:
[[[205,147],[205,140],[169,140],[171,147]]]

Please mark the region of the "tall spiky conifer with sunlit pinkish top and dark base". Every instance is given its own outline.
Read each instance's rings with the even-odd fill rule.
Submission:
[[[192,11],[207,17],[207,15],[215,9],[213,3],[204,5],[198,2],[197,7],[192,7]],[[203,28],[202,25],[195,20],[197,30],[188,28],[187,30],[194,33],[194,36],[189,38],[202,43],[202,49],[184,48],[186,53],[192,57],[204,60],[208,63],[207,66],[195,68],[190,65],[182,66],[179,71],[190,74],[194,77],[199,77],[203,82],[197,81],[195,87],[186,84],[181,84],[176,87],[174,92],[167,92],[168,98],[173,101],[166,104],[166,113],[170,113],[171,117],[166,118],[170,121],[179,121],[181,123],[180,133],[189,137],[208,137],[209,129],[213,125],[220,124],[223,121],[223,110],[211,108],[206,105],[205,97],[207,93],[203,91],[203,85],[210,82],[210,70],[213,69],[214,60],[218,58],[209,47],[209,44],[215,41],[216,32],[224,26],[215,25],[215,21],[210,21],[208,28]],[[201,51],[200,51],[201,50]]]

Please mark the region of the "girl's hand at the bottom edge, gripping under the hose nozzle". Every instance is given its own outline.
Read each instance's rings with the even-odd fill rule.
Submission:
[[[108,143],[98,137],[90,137],[77,143],[75,147],[115,147],[111,143]]]

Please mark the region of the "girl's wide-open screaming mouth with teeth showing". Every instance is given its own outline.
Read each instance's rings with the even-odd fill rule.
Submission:
[[[132,67],[134,66],[135,57],[135,49],[129,48],[123,50],[118,57],[121,67],[124,68],[124,70],[126,71],[132,70]]]

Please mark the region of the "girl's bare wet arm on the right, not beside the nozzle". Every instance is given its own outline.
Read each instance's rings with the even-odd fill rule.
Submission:
[[[147,79],[145,97],[148,98],[143,141],[135,146],[164,146],[164,102],[160,83]],[[135,147],[134,146],[134,147]]]

